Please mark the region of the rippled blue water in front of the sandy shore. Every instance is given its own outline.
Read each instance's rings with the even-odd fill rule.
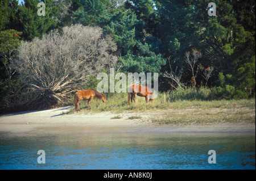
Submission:
[[[216,163],[208,163],[209,150]],[[0,169],[255,169],[255,134],[1,134]]]

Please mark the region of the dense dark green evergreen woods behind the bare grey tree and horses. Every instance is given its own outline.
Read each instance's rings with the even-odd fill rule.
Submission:
[[[38,16],[39,2],[46,16]],[[160,91],[207,86],[218,98],[255,97],[255,0],[1,0],[0,16],[4,105],[23,86],[11,66],[21,41],[72,24],[112,36],[115,70],[158,72]]]

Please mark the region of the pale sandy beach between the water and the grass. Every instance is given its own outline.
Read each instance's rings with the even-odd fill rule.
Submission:
[[[0,132],[8,134],[50,134],[77,132],[154,133],[255,133],[255,124],[217,123],[210,125],[154,125],[150,113],[67,113],[71,107],[0,115]],[[114,119],[119,116],[118,119]],[[139,119],[129,119],[139,116]],[[121,117],[121,118],[120,118]]]

